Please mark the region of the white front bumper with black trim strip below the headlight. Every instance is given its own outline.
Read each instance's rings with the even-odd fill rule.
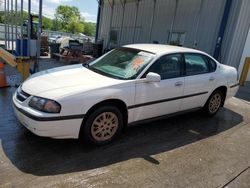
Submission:
[[[25,102],[13,95],[16,117],[28,130],[38,136],[51,138],[78,138],[83,116],[38,116],[28,112]]]

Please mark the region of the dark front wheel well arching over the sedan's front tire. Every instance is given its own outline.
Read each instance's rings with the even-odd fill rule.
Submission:
[[[82,121],[82,125],[81,125],[81,129],[83,127],[83,125],[85,124],[85,121],[87,120],[88,116],[93,113],[97,108],[100,108],[101,106],[115,106],[118,108],[118,110],[120,110],[120,112],[123,115],[123,127],[126,127],[127,123],[128,123],[128,110],[127,110],[127,105],[119,99],[107,99],[105,101],[99,102],[97,104],[95,104],[94,106],[92,106],[88,112],[85,114],[83,121]],[[80,130],[81,131],[81,130]]]

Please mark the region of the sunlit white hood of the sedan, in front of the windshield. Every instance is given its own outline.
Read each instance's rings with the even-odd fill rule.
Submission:
[[[81,87],[81,91],[86,91],[118,84],[122,81],[100,75],[78,64],[38,72],[22,84],[22,90],[37,96],[44,92],[60,90],[60,94],[63,95],[62,91],[70,92],[76,87],[78,89]]]

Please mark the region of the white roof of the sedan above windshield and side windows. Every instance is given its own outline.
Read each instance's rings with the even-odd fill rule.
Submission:
[[[183,52],[206,54],[202,51],[191,48],[184,48],[184,47],[165,45],[165,44],[130,44],[130,45],[125,45],[123,47],[139,49],[157,55],[168,54],[168,53],[183,53]]]

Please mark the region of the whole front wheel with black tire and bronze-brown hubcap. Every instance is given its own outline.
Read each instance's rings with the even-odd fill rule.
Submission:
[[[80,137],[87,143],[108,144],[121,133],[123,115],[114,106],[103,106],[91,113],[82,126]]]

